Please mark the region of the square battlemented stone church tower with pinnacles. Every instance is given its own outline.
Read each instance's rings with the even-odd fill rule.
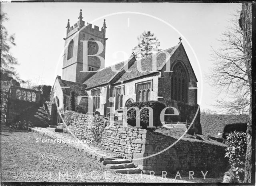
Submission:
[[[65,40],[64,48],[64,59],[62,67],[62,79],[67,81],[82,83],[89,77],[91,77],[100,67],[104,68],[105,62],[102,61],[101,64],[99,57],[88,56],[88,72],[82,72],[83,61],[84,61],[84,43],[83,40],[88,42],[88,55],[95,55],[98,52],[99,46],[96,42],[99,41],[103,44],[104,48],[102,53],[99,54],[103,59],[105,59],[105,49],[106,49],[106,22],[104,20],[101,30],[98,26],[92,28],[92,24],[87,23],[82,20],[82,10],[78,17],[78,22],[74,26],[70,27],[68,20],[67,34]],[[91,41],[91,42],[90,42]]]

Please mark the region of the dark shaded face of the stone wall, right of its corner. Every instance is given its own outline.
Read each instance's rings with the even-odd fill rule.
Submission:
[[[158,153],[174,142],[176,138],[160,133],[148,132],[143,146],[144,153],[135,153],[134,158],[141,158]],[[161,171],[208,171],[208,175],[216,172],[224,172],[228,166],[228,160],[224,158],[226,146],[218,142],[202,141],[197,139],[182,138],[174,146],[144,160],[133,160],[143,169],[154,170],[155,174]],[[144,171],[147,173],[147,170]]]

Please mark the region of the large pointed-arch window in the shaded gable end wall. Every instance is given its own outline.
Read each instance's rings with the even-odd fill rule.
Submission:
[[[187,103],[188,76],[183,65],[179,62],[172,69],[172,99]]]

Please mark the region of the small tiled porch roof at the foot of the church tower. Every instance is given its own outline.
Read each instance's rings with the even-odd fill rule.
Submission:
[[[62,88],[62,91],[64,94],[70,95],[70,91],[74,91],[75,95],[87,95],[85,91],[86,85],[82,83],[63,80],[60,78],[60,76],[57,76],[57,79],[61,87],[70,87],[70,88]]]

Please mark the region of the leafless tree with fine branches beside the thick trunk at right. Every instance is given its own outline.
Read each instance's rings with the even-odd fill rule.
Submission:
[[[219,40],[220,47],[213,49],[213,67],[208,79],[216,87],[216,91],[222,93],[223,97],[216,104],[222,112],[247,114],[250,106],[250,86],[244,62],[244,34],[238,24],[240,10],[233,16]]]

